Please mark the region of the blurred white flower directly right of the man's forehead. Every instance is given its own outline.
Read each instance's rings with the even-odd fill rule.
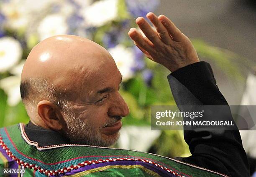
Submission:
[[[133,50],[131,48],[125,48],[123,45],[117,45],[108,50],[112,55],[115,63],[123,75],[123,81],[133,77],[134,72],[132,67],[135,66]]]

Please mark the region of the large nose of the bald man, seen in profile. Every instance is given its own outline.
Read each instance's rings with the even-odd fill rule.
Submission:
[[[108,109],[108,115],[110,116],[121,116],[125,117],[129,114],[129,107],[126,104],[123,97],[118,93],[118,95],[113,98],[113,105]]]

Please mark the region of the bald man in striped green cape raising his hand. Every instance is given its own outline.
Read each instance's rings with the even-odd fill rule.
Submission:
[[[135,28],[128,34],[149,59],[172,72],[177,105],[228,105],[190,40],[164,15],[147,17],[156,31],[138,17],[146,37]],[[111,55],[90,40],[59,35],[40,42],[20,85],[30,122],[0,130],[1,167],[23,167],[25,176],[248,176],[238,131],[184,131],[192,153],[187,158],[106,148],[118,140],[129,113],[118,92],[121,81]]]

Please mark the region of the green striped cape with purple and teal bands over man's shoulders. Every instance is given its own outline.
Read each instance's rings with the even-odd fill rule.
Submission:
[[[202,167],[133,150],[87,145],[39,147],[28,139],[22,123],[0,129],[0,147],[0,168],[25,169],[23,177],[226,177]]]

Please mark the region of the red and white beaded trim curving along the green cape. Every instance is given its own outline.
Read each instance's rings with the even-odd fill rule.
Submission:
[[[177,172],[174,172],[173,170],[170,170],[166,167],[163,167],[162,165],[160,164],[157,164],[153,161],[150,161],[150,160],[146,160],[146,159],[135,159],[135,158],[109,158],[109,159],[99,159],[99,160],[86,160],[82,163],[79,163],[77,165],[71,165],[69,167],[64,167],[62,169],[59,169],[59,170],[46,170],[46,169],[43,169],[35,164],[28,164],[26,162],[23,162],[22,160],[18,159],[17,157],[15,157],[13,155],[12,152],[10,152],[10,149],[7,147],[7,145],[5,145],[5,143],[3,142],[3,138],[0,136],[0,146],[2,147],[2,149],[5,150],[6,154],[8,155],[8,157],[10,157],[12,160],[15,160],[15,162],[20,165],[20,166],[23,166],[24,168],[28,168],[28,169],[33,169],[35,171],[38,171],[40,172],[41,174],[45,174],[45,175],[48,175],[48,176],[56,176],[58,174],[65,174],[65,172],[70,172],[72,170],[77,170],[78,168],[81,168],[81,167],[85,167],[87,165],[94,165],[94,164],[99,164],[99,163],[105,163],[105,162],[115,162],[115,161],[141,161],[141,162],[146,162],[146,163],[149,163],[149,164],[152,164],[152,165],[155,165],[156,167],[159,167],[169,173],[172,173],[173,175],[177,176],[177,177],[185,177],[184,175],[179,175]]]

